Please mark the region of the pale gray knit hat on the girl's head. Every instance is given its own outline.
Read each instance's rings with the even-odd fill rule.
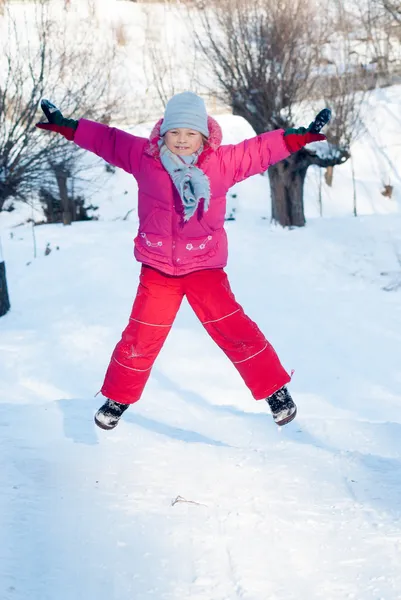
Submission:
[[[200,96],[193,92],[182,92],[170,98],[166,105],[160,134],[164,135],[169,129],[176,127],[194,129],[206,137],[209,136],[206,107]]]

